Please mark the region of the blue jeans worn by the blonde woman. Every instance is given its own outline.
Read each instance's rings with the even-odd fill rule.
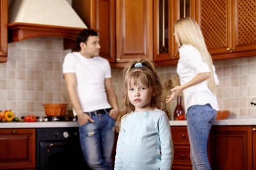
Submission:
[[[207,142],[216,113],[217,111],[213,110],[210,104],[195,105],[188,108],[187,128],[193,170],[211,169],[207,154]]]

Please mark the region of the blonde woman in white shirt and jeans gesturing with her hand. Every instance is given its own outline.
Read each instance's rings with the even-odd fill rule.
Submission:
[[[183,92],[193,169],[211,169],[207,141],[219,110],[216,99],[218,77],[196,21],[181,18],[175,23],[174,30],[179,45],[177,73],[180,85],[171,89],[172,94],[166,102]]]

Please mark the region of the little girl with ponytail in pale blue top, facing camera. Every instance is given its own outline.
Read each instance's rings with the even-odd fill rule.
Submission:
[[[115,170],[170,169],[173,142],[166,113],[161,105],[161,80],[147,58],[124,68],[123,110],[118,115],[119,131]]]

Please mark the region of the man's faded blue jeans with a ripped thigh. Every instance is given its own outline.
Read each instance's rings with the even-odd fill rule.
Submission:
[[[93,115],[92,118],[95,122],[79,127],[84,160],[93,170],[112,170],[115,120],[108,114]]]

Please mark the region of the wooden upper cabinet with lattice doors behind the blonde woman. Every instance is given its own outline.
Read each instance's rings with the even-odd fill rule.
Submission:
[[[196,18],[212,59],[256,55],[256,1],[196,2]]]

